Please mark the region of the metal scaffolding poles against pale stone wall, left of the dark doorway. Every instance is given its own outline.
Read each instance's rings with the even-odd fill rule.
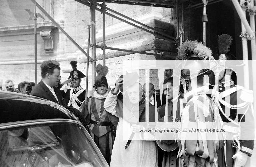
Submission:
[[[52,21],[52,23],[54,23],[56,25],[56,27],[59,28],[59,30],[61,30],[63,32],[63,34],[68,37],[68,39],[85,55],[87,56],[87,63],[86,63],[86,90],[88,90],[88,69],[89,69],[89,61],[92,63],[92,81],[95,80],[96,78],[96,73],[95,73],[95,67],[96,67],[96,48],[101,48],[103,50],[103,65],[106,64],[106,49],[110,49],[110,50],[118,50],[118,51],[123,51],[123,52],[130,52],[130,53],[139,53],[139,54],[146,54],[146,55],[153,55],[153,56],[158,56],[157,54],[154,54],[154,53],[147,53],[147,52],[141,52],[141,51],[134,51],[134,50],[127,50],[127,49],[121,49],[121,48],[113,48],[113,47],[108,47],[106,46],[106,25],[105,25],[105,22],[106,22],[106,15],[108,16],[111,16],[113,18],[116,18],[120,21],[123,21],[129,25],[132,25],[136,28],[139,28],[143,31],[146,31],[150,34],[153,34],[154,36],[156,36],[157,38],[162,38],[162,39],[165,39],[165,40],[168,40],[168,41],[171,41],[173,42],[175,40],[175,37],[172,37],[171,35],[168,35],[164,32],[161,32],[155,28],[152,28],[146,24],[143,24],[137,20],[134,20],[124,14],[121,14],[113,9],[110,9],[108,7],[106,7],[106,2],[115,2],[115,3],[118,3],[117,1],[115,0],[112,0],[112,1],[106,1],[106,0],[102,0],[102,1],[98,1],[98,2],[102,2],[102,4],[99,4],[96,2],[96,0],[75,0],[76,2],[79,2],[83,5],[86,5],[88,7],[90,7],[90,18],[89,18],[89,24],[88,24],[88,43],[87,43],[87,53],[84,51],[84,49],[82,49],[79,44],[77,44],[75,42],[75,40],[70,37],[68,35],[68,33],[35,1],[35,0],[31,0],[33,3],[35,3],[35,6],[37,6],[42,12],[43,14],[49,18],[49,20]],[[121,3],[122,4],[127,4],[125,2],[135,2],[135,3],[138,3],[136,5],[145,5],[145,6],[157,6],[157,7],[173,7],[173,3],[168,3],[166,1],[172,1],[172,0],[164,0],[162,2],[157,2],[157,1],[140,1],[140,0],[118,0],[118,1],[122,1]],[[180,1],[184,1],[184,0],[180,0]],[[135,4],[133,3],[133,4]],[[129,3],[128,3],[129,4]],[[160,5],[160,6],[159,6]],[[97,8],[100,7],[100,8]],[[99,45],[96,45],[96,25],[95,25],[95,20],[96,20],[96,10],[97,11],[100,11],[102,14],[103,14],[103,44],[102,46],[99,46]],[[125,19],[128,19],[129,21],[127,20],[124,20],[116,15],[113,15],[109,12],[106,12],[106,11],[110,11],[114,14],[117,14]],[[134,23],[137,23],[141,26],[138,26]],[[36,25],[35,25],[36,27]],[[145,28],[143,28],[145,27]],[[152,31],[150,31],[150,30]],[[91,36],[90,36],[91,34]],[[90,37],[91,37],[91,41],[92,41],[92,44],[90,44]],[[89,50],[90,50],[90,47],[92,48],[92,57],[89,56]],[[35,41],[35,48],[36,48],[36,41]],[[35,59],[35,66],[37,65],[37,62],[36,62],[36,59]],[[36,77],[36,71],[37,69],[35,69],[35,77]],[[86,97],[87,97],[87,91],[86,91]]]

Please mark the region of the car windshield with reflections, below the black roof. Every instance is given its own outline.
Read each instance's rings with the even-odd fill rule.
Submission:
[[[0,166],[106,166],[84,128],[72,123],[23,126],[0,131]]]

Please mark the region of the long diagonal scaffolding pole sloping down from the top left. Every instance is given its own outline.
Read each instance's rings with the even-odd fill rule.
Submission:
[[[31,0],[33,3],[35,3],[34,2],[34,0]],[[63,32],[63,34],[66,36],[66,37],[68,37],[68,39],[85,55],[85,56],[87,56],[87,53],[81,48],[81,46],[79,46],[78,45],[78,43],[76,43],[76,41],[73,39],[73,38],[71,38],[71,36],[69,36],[68,35],[68,33],[36,2],[36,7],[38,8],[38,9],[40,9],[42,12],[43,12],[43,14],[49,19],[49,20],[51,20],[51,22],[56,26],[56,27],[58,27],[58,29],[59,30],[61,30],[61,32]],[[89,56],[89,60],[90,61],[92,61],[92,58]]]

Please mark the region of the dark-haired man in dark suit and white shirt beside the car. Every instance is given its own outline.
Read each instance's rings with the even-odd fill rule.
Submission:
[[[40,67],[42,80],[36,85],[30,95],[63,105],[61,92],[57,88],[60,81],[60,66],[44,61]]]

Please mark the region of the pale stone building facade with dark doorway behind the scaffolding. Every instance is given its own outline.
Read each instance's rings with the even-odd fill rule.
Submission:
[[[87,51],[87,34],[89,7],[74,0],[37,0],[64,30]],[[202,6],[191,8],[190,5],[200,0],[189,1],[184,10],[184,39],[202,41]],[[0,0],[0,82],[7,79],[15,81],[17,87],[21,81],[34,81],[34,20],[29,19],[25,9],[34,11],[30,0]],[[160,8],[107,3],[107,7],[138,20],[148,26],[159,29],[176,37],[177,15],[175,8]],[[230,2],[219,2],[207,6],[208,46],[217,52],[217,37],[231,33],[235,39],[232,51],[241,54],[241,41],[237,14]],[[222,9],[223,8],[223,9]],[[224,11],[224,9],[226,9]],[[226,15],[219,14],[221,11]],[[42,12],[37,9],[37,12]],[[179,6],[179,25],[181,25],[181,6]],[[86,73],[85,55],[44,15],[45,19],[37,20],[37,81],[40,81],[40,64],[47,59],[60,62],[61,76],[66,78],[71,70],[70,61],[77,60],[78,69]],[[221,18],[221,19],[217,19]],[[222,20],[219,23],[218,20]],[[231,21],[228,21],[231,20]],[[232,22],[236,20],[236,22]],[[216,26],[218,25],[218,26]],[[219,28],[216,28],[219,27]],[[102,14],[96,11],[96,44],[102,44]],[[177,55],[175,42],[170,42],[142,31],[106,15],[106,46],[157,53],[158,56],[130,54],[127,52],[106,50],[106,65],[109,67],[107,78],[109,85],[114,86],[116,78],[122,74],[123,60],[174,60]],[[240,47],[240,48],[239,48]],[[91,53],[91,52],[90,52]],[[90,54],[91,56],[91,54]],[[241,55],[240,55],[241,56]],[[103,53],[96,49],[96,64],[102,63]],[[92,87],[91,63],[89,66],[89,88]],[[154,80],[152,78],[152,80]],[[154,81],[152,81],[154,82]],[[4,84],[4,83],[3,83]],[[142,83],[143,84],[143,83]],[[85,87],[85,79],[82,80]]]

